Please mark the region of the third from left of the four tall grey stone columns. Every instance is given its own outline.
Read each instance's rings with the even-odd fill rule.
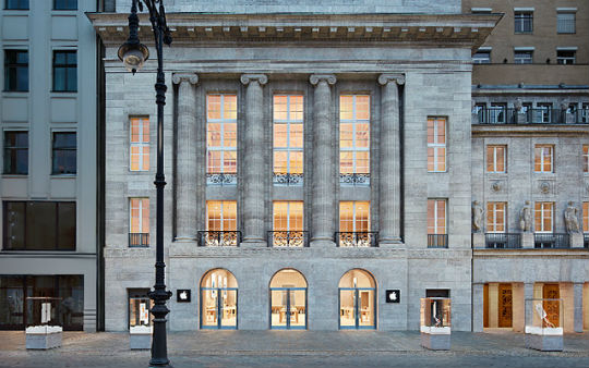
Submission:
[[[332,113],[332,89],[335,75],[311,75],[315,86],[313,103],[313,183],[311,246],[333,245],[335,180],[333,142],[335,124]]]

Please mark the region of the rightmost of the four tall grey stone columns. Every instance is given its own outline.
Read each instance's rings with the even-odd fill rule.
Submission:
[[[381,74],[381,137],[378,173],[378,245],[400,243],[399,89],[401,74]]]

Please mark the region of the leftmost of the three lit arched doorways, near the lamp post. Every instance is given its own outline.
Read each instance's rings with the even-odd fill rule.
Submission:
[[[201,329],[237,329],[238,283],[224,269],[214,269],[201,281]]]

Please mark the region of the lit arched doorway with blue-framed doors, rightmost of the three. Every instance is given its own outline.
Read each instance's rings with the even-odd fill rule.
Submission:
[[[339,280],[339,328],[376,328],[376,282],[366,271],[354,269]]]

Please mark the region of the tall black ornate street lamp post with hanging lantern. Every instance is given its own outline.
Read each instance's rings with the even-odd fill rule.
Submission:
[[[164,262],[164,105],[166,105],[166,83],[164,78],[164,44],[171,44],[170,29],[166,25],[166,11],[164,0],[132,0],[131,14],[129,14],[129,39],[119,48],[119,59],[133,74],[143,66],[149,57],[149,50],[139,40],[137,5],[143,11],[143,4],[149,11],[149,21],[154,30],[155,48],[157,52],[157,79],[155,84],[157,103],[157,172],[155,186],[157,191],[156,201],[156,282],[154,290],[148,293],[154,300],[152,315],[154,315],[154,335],[152,341],[151,367],[169,367],[168,346],[166,338],[166,315],[169,309],[166,300],[171,297],[171,292],[166,291]]]

